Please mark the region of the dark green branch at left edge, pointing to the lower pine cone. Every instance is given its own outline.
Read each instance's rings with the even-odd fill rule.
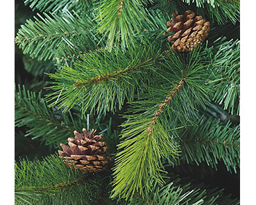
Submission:
[[[73,135],[74,130],[81,130],[85,122],[80,119],[74,121],[70,112],[63,114],[56,112],[56,109],[49,109],[41,93],[37,96],[18,85],[18,90],[15,91],[15,126],[24,125],[30,128],[26,136],[40,138],[46,145],[58,147]]]

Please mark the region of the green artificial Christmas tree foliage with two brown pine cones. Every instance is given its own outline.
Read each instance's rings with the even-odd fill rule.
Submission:
[[[16,204],[239,204],[239,1],[15,2]]]

